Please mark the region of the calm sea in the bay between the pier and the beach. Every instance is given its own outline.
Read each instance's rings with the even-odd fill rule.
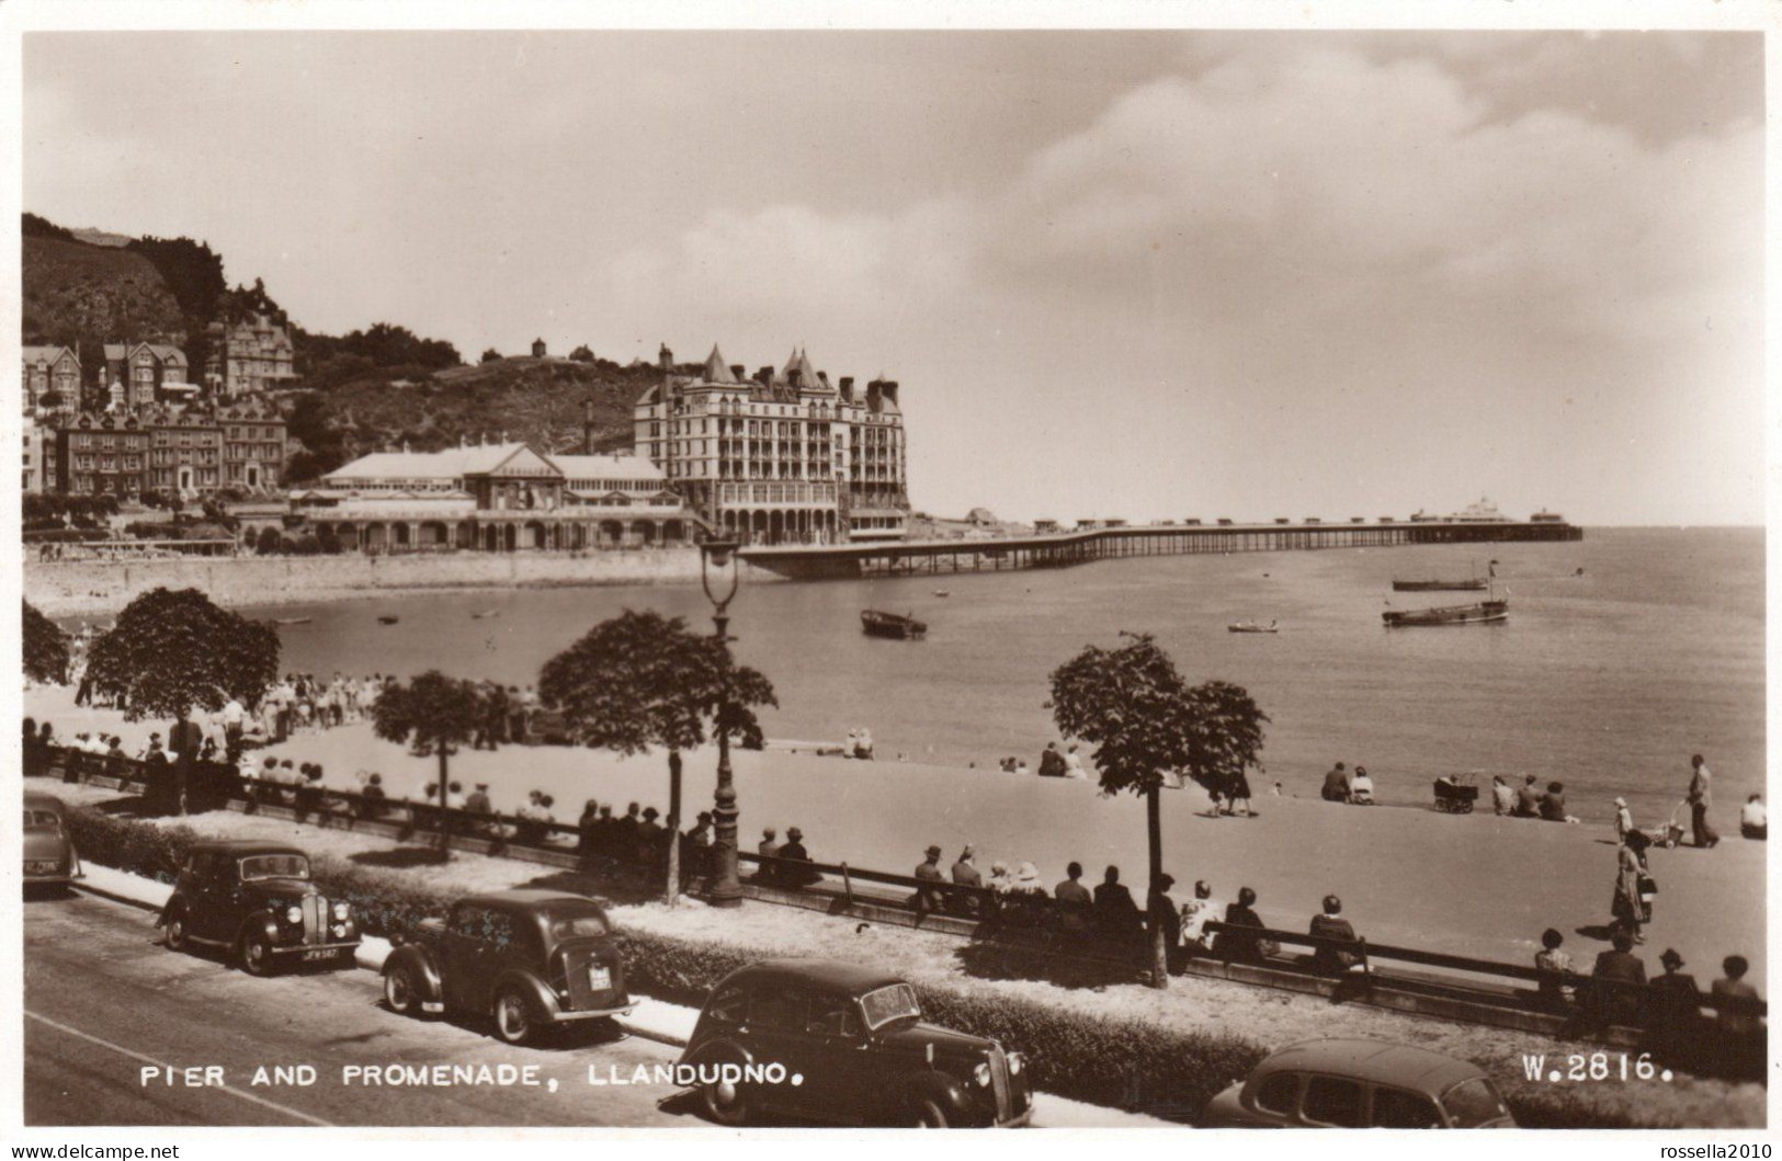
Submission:
[[[1397,577],[1483,575],[1497,559],[1511,620],[1381,627],[1465,595],[1390,591]],[[1582,575],[1575,575],[1582,568]],[[948,589],[950,597],[937,597]],[[328,675],[440,668],[511,684],[622,609],[709,629],[697,588],[440,593],[285,605],[283,664]],[[861,634],[864,607],[928,621],[921,643]],[[472,618],[472,613],[497,616]],[[1315,794],[1335,760],[1363,764],[1386,801],[1427,801],[1445,773],[1561,780],[1572,812],[1641,824],[1677,805],[1689,755],[1718,775],[1721,826],[1764,780],[1761,529],[1609,529],[1582,543],[1140,557],[1059,572],[962,573],[745,588],[738,654],[779,689],[770,737],[834,741],[870,727],[880,759],[1035,762],[1053,737],[1048,673],[1083,645],[1149,632],[1190,680],[1251,691],[1272,718],[1258,794]],[[380,625],[378,616],[397,616]],[[1278,636],[1226,632],[1278,620]],[[1488,782],[1488,780],[1481,780]]]

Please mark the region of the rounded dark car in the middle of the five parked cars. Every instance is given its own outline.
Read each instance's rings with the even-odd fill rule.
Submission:
[[[625,965],[606,910],[558,890],[467,896],[446,919],[394,937],[383,997],[401,1015],[486,1015],[524,1043],[540,1029],[631,1013]]]

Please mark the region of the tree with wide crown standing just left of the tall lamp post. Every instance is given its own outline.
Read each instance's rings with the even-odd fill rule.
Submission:
[[[773,684],[734,664],[716,637],[690,632],[686,618],[627,609],[547,661],[538,694],[563,710],[565,727],[584,746],[668,751],[666,897],[674,903],[681,894],[681,751],[720,730],[759,748],[752,707],[779,705]]]

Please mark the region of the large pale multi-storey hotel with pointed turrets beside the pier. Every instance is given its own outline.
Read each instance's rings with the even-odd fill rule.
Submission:
[[[830,383],[804,349],[752,378],[725,363],[716,345],[691,376],[675,372],[666,347],[659,361],[663,383],[633,410],[634,445],[709,525],[768,545],[905,536],[895,379],[873,379],[864,390],[852,376]]]

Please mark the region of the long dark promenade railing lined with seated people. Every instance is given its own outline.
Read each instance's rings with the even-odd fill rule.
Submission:
[[[93,755],[71,746],[32,748],[27,775],[107,785],[144,798],[146,764],[139,759]],[[171,775],[171,771],[169,771]],[[162,787],[166,789],[166,787]],[[438,839],[453,849],[517,858],[560,869],[620,871],[640,890],[654,890],[665,869],[666,835],[658,849],[584,833],[576,823],[442,808],[437,803],[367,796],[314,783],[244,782],[237,769],[200,762],[187,785],[194,812],[237,810],[289,817],[321,828],[374,833],[399,842]],[[613,848],[618,849],[602,849]],[[629,849],[627,849],[629,848]],[[683,874],[691,890],[706,878],[707,848],[683,848]],[[921,880],[909,874],[738,853],[752,899],[800,906],[855,921],[959,935],[971,942],[968,965],[994,976],[1042,978],[1064,985],[1139,979],[1149,963],[1149,942],[1139,912],[1108,915],[1050,896],[1003,894],[987,887]],[[1171,970],[1271,988],[1324,995],[1333,1001],[1513,1027],[1550,1036],[1584,1038],[1622,1047],[1647,1047],[1675,1020],[1679,1001],[1650,985],[1598,981],[1574,972],[1549,972],[1524,963],[1356,940],[1304,931],[1208,922],[1212,947],[1181,947]],[[1349,956],[1351,967],[1328,970],[1319,953]],[[1574,997],[1566,997],[1574,992]],[[1718,1013],[1746,1015],[1762,1043],[1764,1001],[1698,994],[1684,1001],[1704,1029]],[[1716,1060],[1750,1054],[1716,1036]],[[1761,1058],[1757,1052],[1755,1058]]]

